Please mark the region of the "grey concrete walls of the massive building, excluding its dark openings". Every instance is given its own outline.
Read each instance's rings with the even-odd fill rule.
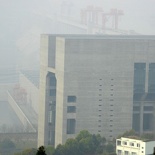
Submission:
[[[132,129],[134,63],[155,62],[155,37],[59,35],[55,42],[55,68],[48,66],[48,61],[54,59],[49,59],[50,37],[56,36],[43,35],[41,40],[40,140],[48,139],[49,71],[57,80],[56,145],[83,129],[111,140]],[[67,97],[72,95],[77,100],[68,103]],[[76,106],[76,113],[67,113],[70,105]],[[70,118],[76,119],[75,134],[66,133]]]

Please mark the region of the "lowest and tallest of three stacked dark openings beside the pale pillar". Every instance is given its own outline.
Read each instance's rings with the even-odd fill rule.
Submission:
[[[67,119],[67,134],[75,134],[75,119]]]

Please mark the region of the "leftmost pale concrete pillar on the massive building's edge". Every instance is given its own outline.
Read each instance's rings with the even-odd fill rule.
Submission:
[[[48,36],[43,35],[40,45],[40,85],[39,85],[39,116],[38,146],[48,145],[48,102],[46,101],[46,77],[48,74]]]

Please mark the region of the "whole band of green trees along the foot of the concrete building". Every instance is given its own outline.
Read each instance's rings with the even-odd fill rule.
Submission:
[[[129,130],[120,137],[132,137],[138,139],[152,139],[153,134],[138,135],[134,130]],[[87,130],[81,131],[75,138],[68,139],[64,145],[41,146],[37,149],[27,149],[14,155],[116,155],[115,139],[108,142],[99,134],[91,134]],[[9,143],[8,143],[9,144]]]

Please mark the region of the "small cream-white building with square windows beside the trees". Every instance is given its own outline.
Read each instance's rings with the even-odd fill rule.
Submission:
[[[117,155],[152,155],[154,147],[155,141],[124,137],[116,140]]]

